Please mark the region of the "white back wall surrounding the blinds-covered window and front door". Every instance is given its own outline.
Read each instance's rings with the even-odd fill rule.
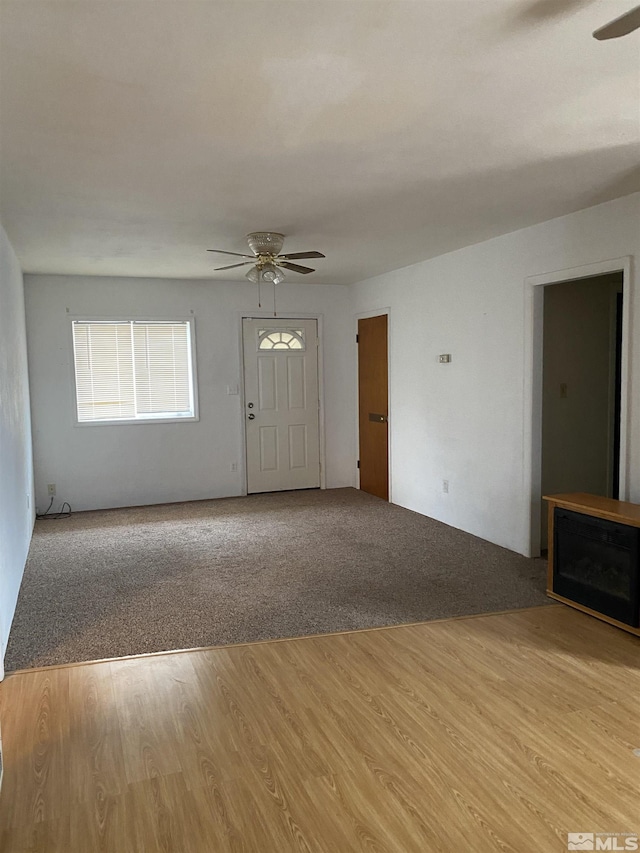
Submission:
[[[265,288],[266,291],[266,288]],[[240,316],[257,313],[246,282],[26,276],[34,467],[39,510],[55,483],[59,508],[134,506],[239,495],[243,490]],[[266,293],[265,293],[266,296]],[[353,377],[345,287],[278,286],[278,313],[323,315],[326,485],[353,485]],[[195,317],[200,420],[74,426],[71,317]],[[231,463],[238,471],[231,471]]]

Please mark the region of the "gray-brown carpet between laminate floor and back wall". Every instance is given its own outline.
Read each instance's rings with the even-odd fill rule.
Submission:
[[[548,604],[546,563],[355,489],[39,521],[7,670]]]

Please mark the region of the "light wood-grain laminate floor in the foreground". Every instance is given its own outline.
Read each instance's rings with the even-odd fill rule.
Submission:
[[[640,640],[561,605],[25,671],[3,853],[563,853],[640,833]]]

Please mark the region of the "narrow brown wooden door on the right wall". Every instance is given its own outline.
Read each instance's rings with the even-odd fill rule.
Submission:
[[[387,315],[358,320],[360,488],[389,500]]]

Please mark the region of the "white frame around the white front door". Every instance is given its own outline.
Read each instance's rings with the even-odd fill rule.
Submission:
[[[289,320],[315,320],[318,324],[318,443],[320,450],[320,488],[326,489],[326,450],[325,450],[325,425],[324,425],[324,314],[309,313],[306,311],[287,311],[285,314],[273,316],[273,311],[238,311],[238,355],[240,364],[240,436],[242,440],[240,463],[238,472],[240,474],[241,495],[248,495],[247,484],[247,424],[245,420],[246,394],[244,387],[244,340],[243,320],[265,320],[272,323],[287,323]]]

